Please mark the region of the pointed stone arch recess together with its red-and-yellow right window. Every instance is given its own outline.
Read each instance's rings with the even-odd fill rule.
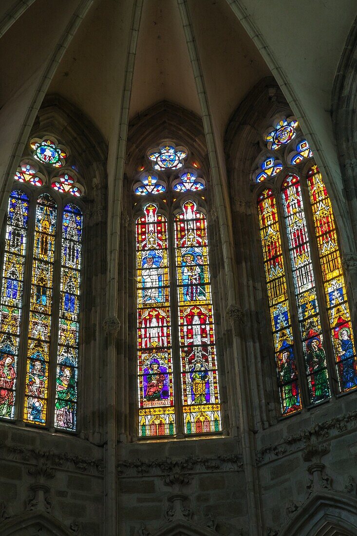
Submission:
[[[253,251],[263,248],[262,288],[269,301],[277,367],[272,374],[278,375],[278,415],[285,416],[357,386],[351,331],[355,311],[337,229],[340,219],[308,140],[271,79],[261,81],[233,115],[225,147],[233,217],[237,225],[247,229],[252,248],[243,250],[243,262],[253,281],[263,276],[254,265]],[[239,251],[241,244],[236,248]],[[256,255],[262,254],[257,250]],[[331,256],[336,267],[326,264]],[[343,288],[337,301],[332,299],[334,286]],[[266,310],[266,304],[260,302],[257,295],[257,309]],[[351,382],[344,379],[343,337],[351,345]],[[261,341],[261,347],[264,355],[272,354],[266,341]],[[253,384],[252,391],[265,384],[264,394],[260,391],[259,396],[275,398],[275,382],[267,373],[270,364],[255,361],[253,366],[260,370],[258,385]],[[267,407],[270,412],[270,401]],[[262,414],[261,408],[259,412]]]

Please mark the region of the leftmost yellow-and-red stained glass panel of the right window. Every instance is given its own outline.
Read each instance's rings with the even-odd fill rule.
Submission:
[[[269,189],[264,190],[258,198],[258,215],[278,372],[281,413],[288,415],[301,409],[301,398],[277,205],[276,199]]]

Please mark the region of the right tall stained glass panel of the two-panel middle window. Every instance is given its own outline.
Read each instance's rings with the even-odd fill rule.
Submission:
[[[221,430],[206,218],[188,200],[175,218],[185,433]]]

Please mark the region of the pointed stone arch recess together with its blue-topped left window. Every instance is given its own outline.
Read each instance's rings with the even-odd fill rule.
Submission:
[[[88,423],[85,406],[98,404],[83,389],[77,407],[78,385],[92,374],[79,366],[81,346],[95,346],[82,338],[89,321],[84,310],[93,307],[88,295],[102,300],[94,279],[102,277],[105,284],[105,247],[98,248],[97,263],[84,261],[90,255],[86,241],[99,240],[105,226],[105,161],[106,147],[94,126],[71,103],[48,96],[8,205],[1,370],[10,379],[2,383],[4,419],[78,433]],[[83,282],[93,292],[84,293]],[[102,310],[96,314],[101,323]],[[91,360],[94,353],[86,355]]]

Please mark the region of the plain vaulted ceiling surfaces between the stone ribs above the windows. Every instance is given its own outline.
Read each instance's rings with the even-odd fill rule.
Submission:
[[[24,116],[44,66],[50,63],[64,28],[83,3],[84,0],[2,0],[3,123],[14,114],[18,114],[16,121]],[[109,147],[117,143],[120,124],[162,100],[199,116],[208,114],[218,147],[229,117],[244,96],[257,81],[272,74],[301,120],[305,134],[310,136],[319,164],[326,170],[330,168],[331,176],[339,174],[331,92],[357,13],[357,0],[301,0],[298,4],[282,0],[144,0],[141,18],[138,17],[137,46],[133,47],[133,77],[128,77],[132,14],[140,3],[141,0],[94,0],[68,47],[64,47],[66,51],[51,72],[51,83],[48,87],[45,84],[44,92],[57,93],[83,111]],[[183,11],[188,10],[200,62],[198,71],[203,78],[200,95],[189,56],[191,43],[187,43],[187,27],[180,14],[183,4]],[[130,107],[123,123],[125,83]],[[18,95],[24,96],[20,106],[14,101]],[[15,139],[20,130],[15,125],[13,129]],[[0,143],[9,154],[6,137],[2,138],[1,133]]]

